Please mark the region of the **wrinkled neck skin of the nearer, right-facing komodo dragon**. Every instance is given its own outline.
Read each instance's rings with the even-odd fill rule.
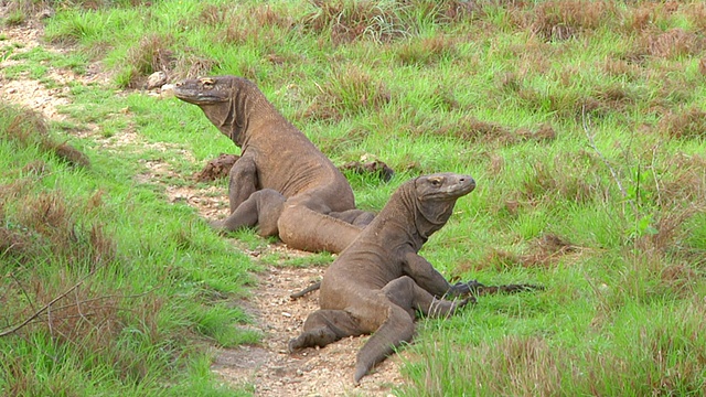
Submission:
[[[393,200],[398,204],[378,214],[379,222],[396,229],[392,236],[399,236],[398,243],[410,244],[415,251],[419,251],[427,239],[443,227],[456,204],[456,198],[424,201],[417,196],[414,183],[398,189],[391,197]]]

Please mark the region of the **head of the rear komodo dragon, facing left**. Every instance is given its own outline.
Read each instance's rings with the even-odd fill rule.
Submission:
[[[247,139],[253,112],[270,106],[254,83],[235,76],[188,78],[176,83],[173,93],[176,98],[197,105],[238,147]]]

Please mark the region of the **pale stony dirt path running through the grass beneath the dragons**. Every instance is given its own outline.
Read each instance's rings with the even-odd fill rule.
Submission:
[[[4,9],[0,7],[0,18],[3,13]],[[57,53],[71,51],[42,43],[42,30],[38,22],[17,28],[2,26],[2,35],[7,37],[2,42],[3,45],[17,46],[13,54],[40,45]],[[13,61],[10,56],[0,62],[0,69],[19,62],[22,61]],[[0,73],[0,100],[40,111],[51,120],[64,120],[67,116],[58,108],[71,104],[67,82],[107,84],[109,81],[109,75],[100,71],[100,65],[92,65],[87,75],[76,75],[68,69],[50,67],[46,77],[56,83],[54,88],[46,88],[28,74],[7,79]],[[124,131],[106,139],[100,137],[95,128],[89,129],[93,132],[82,138],[99,140],[103,146],[113,150],[128,143],[143,143],[135,132]],[[190,153],[184,154],[191,158]],[[156,176],[165,174],[186,180],[190,178],[174,174],[165,162],[148,162],[146,165],[149,171],[138,176],[139,182],[153,183],[164,180]],[[225,215],[224,212],[227,211],[227,205],[224,205],[227,201],[225,186],[197,190],[183,185],[167,185],[165,191],[170,201],[185,202],[204,217],[215,218]],[[237,242],[234,240],[234,244],[237,245]],[[288,249],[281,244],[270,245],[266,250],[277,251],[282,259],[309,255]],[[253,260],[258,260],[264,253],[248,254]],[[364,377],[360,385],[353,384],[355,354],[366,337],[351,337],[322,350],[309,348],[293,355],[287,352],[288,341],[301,331],[307,315],[318,307],[318,292],[299,300],[290,300],[289,294],[304,288],[310,281],[320,279],[322,273],[321,267],[269,267],[257,275],[259,285],[253,291],[253,296],[238,304],[246,308],[256,319],[254,326],[263,333],[263,343],[257,346],[220,350],[212,369],[224,382],[246,386],[256,396],[389,396],[394,387],[400,386],[404,382],[398,371],[403,360],[399,356],[385,361],[375,373]]]

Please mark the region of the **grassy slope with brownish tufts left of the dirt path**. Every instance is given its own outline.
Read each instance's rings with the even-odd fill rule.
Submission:
[[[130,182],[139,169],[126,159],[87,148],[77,165],[54,133],[0,108],[0,332],[39,314],[0,337],[0,390],[225,394],[206,347],[258,339],[233,326],[247,318],[225,301],[245,292],[249,259]]]

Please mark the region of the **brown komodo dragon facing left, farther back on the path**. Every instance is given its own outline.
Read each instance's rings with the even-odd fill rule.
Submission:
[[[258,227],[288,246],[342,251],[374,217],[355,208],[345,176],[287,121],[257,86],[240,77],[185,79],[176,98],[197,105],[221,132],[240,147],[229,172],[231,215],[220,230]]]

